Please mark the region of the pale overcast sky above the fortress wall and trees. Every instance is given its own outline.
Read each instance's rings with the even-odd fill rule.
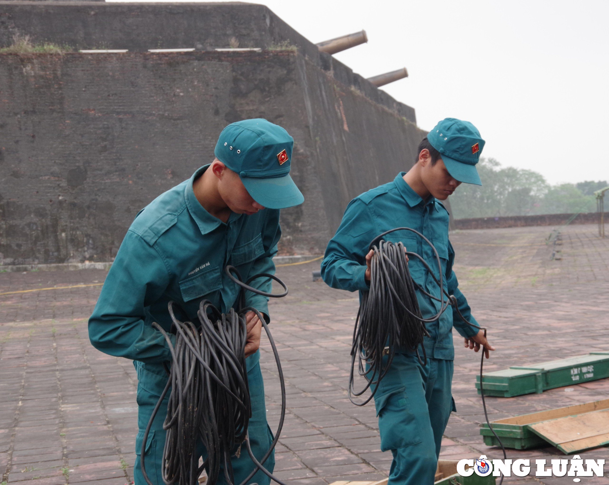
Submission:
[[[255,3],[314,43],[365,29],[368,43],[336,58],[364,77],[405,66],[409,78],[382,89],[424,130],[458,117],[504,166],[609,180],[609,1]]]

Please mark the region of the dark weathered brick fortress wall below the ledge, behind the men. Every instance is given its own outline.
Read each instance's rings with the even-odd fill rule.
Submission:
[[[113,259],[139,209],[248,117],[295,139],[306,201],[282,211],[281,251],[322,252],[424,136],[325,67],[295,51],[0,55],[0,264]]]

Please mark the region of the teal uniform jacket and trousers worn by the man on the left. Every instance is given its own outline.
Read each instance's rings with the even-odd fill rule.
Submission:
[[[152,322],[169,332],[169,301],[176,302],[193,322],[198,321],[197,310],[202,299],[227,312],[239,295],[238,285],[225,274],[227,265],[236,267],[244,281],[256,273],[275,273],[272,258],[281,236],[280,211],[263,209],[253,215],[232,213],[227,223],[213,217],[203,209],[192,190],[193,181],[207,167],[201,167],[189,180],[167,190],[139,212],[119,248],[89,319],[93,346],[106,354],[132,359],[138,372],[138,455],[143,429],[167,382],[163,362],[171,361],[169,346],[161,332],[152,327]],[[262,291],[271,290],[269,279],[256,279],[250,285]],[[245,293],[245,305],[258,309],[269,321],[267,303],[264,296],[251,291]],[[174,335],[170,337],[175,339]],[[269,448],[272,435],[266,424],[259,358],[258,351],[245,362],[254,413],[250,420],[250,438],[253,448],[257,448],[255,455],[261,458]],[[166,404],[161,410],[166,413]],[[164,414],[157,418],[150,435],[155,436],[156,444],[147,444],[147,450],[150,448],[147,453],[151,456],[146,460],[146,468],[149,475],[156,476],[153,481],[161,485]],[[241,454],[241,462],[233,463],[236,478],[245,478],[241,475],[253,469],[247,453]],[[273,457],[269,458],[267,468],[272,470],[273,462]],[[139,456],[134,473],[136,484],[144,483]],[[269,482],[262,472],[254,478],[258,483]],[[221,478],[220,483],[223,480]]]

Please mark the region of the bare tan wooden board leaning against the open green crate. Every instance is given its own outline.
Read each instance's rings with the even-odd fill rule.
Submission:
[[[530,424],[529,429],[563,453],[574,453],[582,449],[601,446],[607,441],[609,410],[542,421]],[[584,448],[578,448],[579,446],[584,446]]]

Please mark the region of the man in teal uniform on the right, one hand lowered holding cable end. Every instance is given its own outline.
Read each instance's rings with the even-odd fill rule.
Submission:
[[[463,316],[477,324],[452,271],[455,253],[448,240],[448,212],[440,201],[446,200],[462,182],[481,185],[476,163],[482,147],[484,140],[470,122],[454,118],[439,122],[421,141],[409,172],[398,173],[392,182],[368,190],[347,206],[326,249],[323,280],[333,288],[367,291],[372,257],[368,245],[382,232],[409,227],[434,244],[442,261],[445,289],[456,296]],[[431,268],[438,267],[430,246],[413,232],[392,232],[385,240],[403,242],[408,251],[420,254]],[[410,258],[409,270],[418,284],[440,298],[440,288],[423,263]],[[439,302],[420,291],[417,299],[424,318],[437,313]],[[452,327],[464,338],[465,347],[477,352],[484,346],[487,358],[488,351],[494,350],[484,332],[464,323],[451,307],[426,327],[430,334],[424,338],[427,365],[421,365],[407,349],[396,349],[375,395],[381,450],[391,450],[393,454],[389,485],[434,483],[442,434],[451,411],[456,411],[451,394]]]

